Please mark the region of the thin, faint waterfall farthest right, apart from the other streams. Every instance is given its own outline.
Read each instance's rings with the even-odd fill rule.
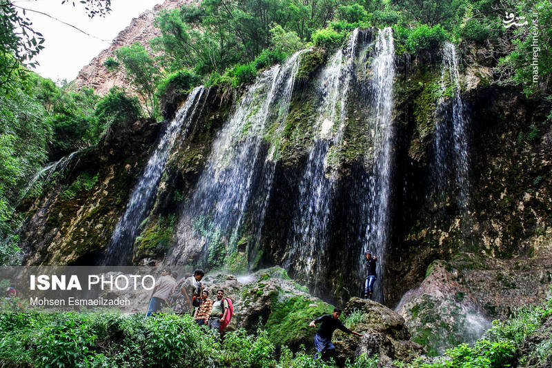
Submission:
[[[466,209],[469,205],[468,119],[460,93],[458,58],[452,43],[444,45],[442,57],[441,96],[435,124],[437,191],[442,195],[456,192],[458,206]]]

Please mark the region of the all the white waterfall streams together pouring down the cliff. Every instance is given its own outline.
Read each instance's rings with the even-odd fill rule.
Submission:
[[[391,28],[355,30],[346,45],[328,56],[324,68],[315,74],[311,143],[300,167],[296,192],[290,197],[293,206],[273,213],[280,205],[273,192],[274,182],[281,179],[279,142],[290,105],[300,93],[298,88],[303,87],[295,81],[297,70],[310,51],[296,52],[286,63],[262,72],[235,103],[215,136],[204,170],[181,205],[175,241],[164,263],[221,269],[228,265],[225,256],[239,251],[246,254],[250,269],[283,265],[311,292],[333,299],[329,291],[336,277],[348,287],[342,289],[342,295],[362,294],[364,252],[370,249],[378,258],[375,300],[385,303],[386,255],[397,186],[395,151],[399,144],[393,116],[393,32]],[[451,117],[443,120],[449,123],[436,125],[444,137],[437,137],[437,141],[449,143],[436,143],[440,148],[435,150],[435,161],[440,162],[442,147],[455,152],[455,159],[443,159],[436,165],[442,172],[435,170],[435,176],[446,183],[459,181],[459,201],[467,206],[469,158],[464,136],[469,122],[460,99],[453,47],[446,46],[443,61],[442,79],[453,85],[455,93],[453,99],[440,102],[452,110],[447,115]],[[113,233],[105,264],[132,262],[132,245],[155,201],[175,137],[186,139],[186,130],[201,115],[205,94],[208,91],[204,88],[191,92],[177,118],[168,124]],[[346,144],[350,116],[364,124],[366,152],[361,169],[344,178],[335,152]],[[343,185],[345,181],[350,183]],[[343,203],[348,207],[343,208]],[[267,218],[282,212],[286,212],[282,216],[286,225],[281,229],[286,250],[263,254],[265,229],[274,231],[277,226],[267,223]],[[343,248],[336,249],[339,245]],[[343,259],[330,259],[332,254],[343,254]],[[342,273],[345,275],[341,277]]]

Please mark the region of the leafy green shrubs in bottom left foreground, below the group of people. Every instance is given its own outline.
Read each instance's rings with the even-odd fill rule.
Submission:
[[[282,347],[268,334],[228,332],[220,340],[207,327],[175,314],[36,313],[0,314],[0,362],[34,367],[258,367],[324,368],[305,351]],[[347,367],[376,367],[358,358]]]

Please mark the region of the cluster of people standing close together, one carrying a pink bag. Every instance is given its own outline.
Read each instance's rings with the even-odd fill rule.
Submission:
[[[208,290],[201,283],[204,276],[202,269],[196,269],[192,276],[181,278],[177,282],[177,273],[164,269],[152,289],[146,316],[151,316],[164,307],[172,307],[177,314],[193,314],[195,323],[199,326],[223,331],[232,318],[232,301],[224,297],[223,289],[217,290],[215,302],[210,300]]]

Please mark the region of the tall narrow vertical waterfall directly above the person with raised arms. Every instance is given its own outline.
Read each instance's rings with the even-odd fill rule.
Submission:
[[[395,77],[395,48],[393,30],[385,28],[377,34],[375,55],[371,65],[371,114],[370,124],[373,147],[373,171],[369,178],[368,198],[364,214],[367,214],[366,231],[362,244],[360,274],[366,276],[364,252],[370,249],[377,256],[377,283],[375,300],[384,303],[383,276],[386,263],[386,247],[389,237],[390,200],[394,174],[393,144],[393,78]],[[370,157],[368,157],[370,159]]]

